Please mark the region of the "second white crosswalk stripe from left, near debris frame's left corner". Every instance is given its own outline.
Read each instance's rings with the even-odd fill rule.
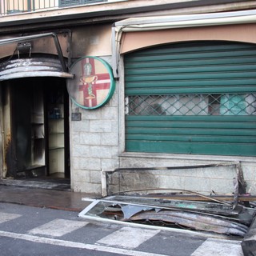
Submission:
[[[78,230],[87,224],[88,222],[70,221],[57,218],[51,222],[30,230],[29,234],[42,234],[51,237],[61,237],[62,235],[68,234],[74,230]]]

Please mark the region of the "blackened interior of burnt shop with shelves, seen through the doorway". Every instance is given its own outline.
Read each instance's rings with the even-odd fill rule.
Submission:
[[[18,78],[8,86],[13,158],[6,177],[70,182],[66,79]]]

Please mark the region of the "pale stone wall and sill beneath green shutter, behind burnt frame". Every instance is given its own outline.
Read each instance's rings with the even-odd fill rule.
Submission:
[[[256,194],[256,162],[254,158],[142,155],[126,154],[121,157],[120,163],[124,170],[109,175],[110,194],[118,192],[118,190],[136,190],[145,187],[193,190],[202,194],[232,194],[234,193],[234,178],[237,177],[237,169],[233,163],[238,162],[241,164],[242,174],[246,181],[246,192]],[[212,164],[219,166],[207,167]],[[202,165],[206,166],[192,167]],[[171,170],[161,168],[166,166],[170,166]],[[175,169],[175,166],[179,167]],[[181,168],[181,166],[191,167]],[[139,169],[145,167],[152,167],[152,170]],[[134,168],[134,170],[126,171],[125,168]]]

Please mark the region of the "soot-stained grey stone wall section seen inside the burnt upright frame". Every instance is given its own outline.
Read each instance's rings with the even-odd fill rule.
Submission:
[[[176,169],[177,168],[177,169]],[[108,175],[108,194],[126,190],[147,192],[190,190],[202,194],[232,194],[236,166],[203,166],[171,170],[119,170]],[[160,190],[158,190],[160,189]],[[145,190],[145,191],[146,191]]]

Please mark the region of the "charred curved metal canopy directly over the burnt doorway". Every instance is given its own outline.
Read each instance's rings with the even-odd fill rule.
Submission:
[[[29,77],[73,78],[73,74],[62,70],[58,58],[18,58],[0,63],[0,81]]]

